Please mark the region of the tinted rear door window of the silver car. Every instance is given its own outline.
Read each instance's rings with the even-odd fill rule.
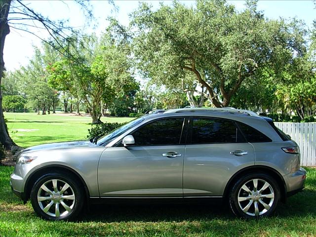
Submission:
[[[233,121],[217,118],[194,118],[192,143],[233,143],[237,128]]]

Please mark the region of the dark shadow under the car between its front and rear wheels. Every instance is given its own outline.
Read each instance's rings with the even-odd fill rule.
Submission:
[[[235,216],[225,206],[215,204],[93,204],[79,221],[181,222],[214,218],[231,219]]]

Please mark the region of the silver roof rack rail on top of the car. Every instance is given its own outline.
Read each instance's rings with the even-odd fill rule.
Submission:
[[[229,114],[239,114],[246,116],[259,117],[256,113],[248,110],[239,110],[232,107],[224,108],[184,108],[184,109],[174,109],[164,112],[165,114],[169,113],[184,113],[184,112],[205,112],[205,113],[229,113]]]

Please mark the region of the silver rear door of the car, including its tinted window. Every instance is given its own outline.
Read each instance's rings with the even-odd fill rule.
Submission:
[[[237,170],[254,165],[254,149],[233,120],[190,118],[183,171],[184,197],[222,196]]]

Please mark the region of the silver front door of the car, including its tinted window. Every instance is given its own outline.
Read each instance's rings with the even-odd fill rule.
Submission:
[[[183,197],[184,118],[150,121],[131,132],[135,144],[107,148],[98,167],[101,197]]]

